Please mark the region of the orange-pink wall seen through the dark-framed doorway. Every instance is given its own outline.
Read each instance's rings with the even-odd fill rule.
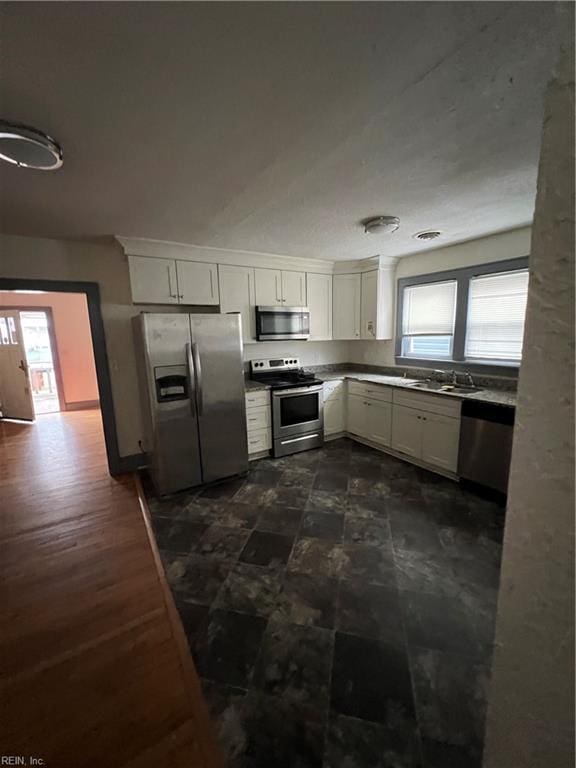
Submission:
[[[50,307],[66,404],[98,400],[88,305],[83,293],[0,292],[2,307]]]

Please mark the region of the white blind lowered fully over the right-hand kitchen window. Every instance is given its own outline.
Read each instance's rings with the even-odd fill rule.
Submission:
[[[528,296],[528,270],[470,280],[465,356],[520,361]]]

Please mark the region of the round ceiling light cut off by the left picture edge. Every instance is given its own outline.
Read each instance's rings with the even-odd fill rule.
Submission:
[[[0,160],[20,168],[55,171],[63,163],[62,147],[36,128],[0,120]]]

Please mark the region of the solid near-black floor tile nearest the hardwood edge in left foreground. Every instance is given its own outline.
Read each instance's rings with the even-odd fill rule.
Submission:
[[[246,688],[267,620],[215,609],[194,643],[198,672],[208,680]]]

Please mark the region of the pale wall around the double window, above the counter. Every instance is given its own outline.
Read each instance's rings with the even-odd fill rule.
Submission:
[[[530,232],[530,227],[522,227],[446,248],[429,249],[412,256],[404,256],[397,264],[396,280],[429,272],[442,272],[445,269],[471,267],[476,264],[489,264],[492,261],[528,256]],[[394,300],[396,300],[396,290]],[[394,317],[396,317],[395,307]],[[356,341],[350,344],[350,362],[394,365],[394,340]]]

